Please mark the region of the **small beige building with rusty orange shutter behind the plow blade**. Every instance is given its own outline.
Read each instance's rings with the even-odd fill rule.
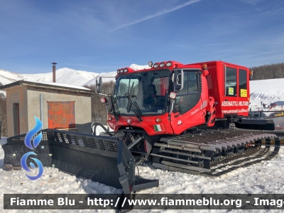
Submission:
[[[35,118],[43,129],[91,134],[91,95],[88,88],[19,80],[1,85],[6,91],[8,137],[28,133]]]

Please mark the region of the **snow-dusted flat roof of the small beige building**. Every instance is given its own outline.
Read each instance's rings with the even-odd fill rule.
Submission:
[[[47,83],[47,82],[38,82],[38,81],[34,82],[34,81],[26,81],[26,80],[18,80],[13,83],[1,85],[0,90],[6,90],[7,88],[11,88],[11,87],[18,86],[18,85],[27,85],[27,86],[33,86],[35,88],[49,88],[49,89],[55,89],[55,90],[65,90],[65,91],[88,93],[88,94],[95,93],[93,90],[90,90],[89,88],[84,88],[82,86],[68,85],[68,84],[63,84],[63,83]]]

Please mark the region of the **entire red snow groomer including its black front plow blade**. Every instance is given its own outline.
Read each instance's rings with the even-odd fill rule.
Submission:
[[[42,146],[34,150],[38,160],[127,194],[158,187],[158,180],[135,175],[139,162],[218,176],[278,153],[280,140],[269,132],[273,121],[248,118],[249,68],[223,61],[148,65],[117,70],[109,95],[102,94],[102,78],[97,79],[113,132],[99,123],[92,124],[90,135],[42,130]],[[105,132],[97,136],[99,125]],[[28,152],[24,137],[9,137],[2,146],[5,165],[21,166]]]

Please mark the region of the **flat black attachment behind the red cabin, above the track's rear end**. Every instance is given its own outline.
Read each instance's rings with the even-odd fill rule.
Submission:
[[[273,120],[240,118],[234,121],[236,128],[251,130],[275,130]]]

